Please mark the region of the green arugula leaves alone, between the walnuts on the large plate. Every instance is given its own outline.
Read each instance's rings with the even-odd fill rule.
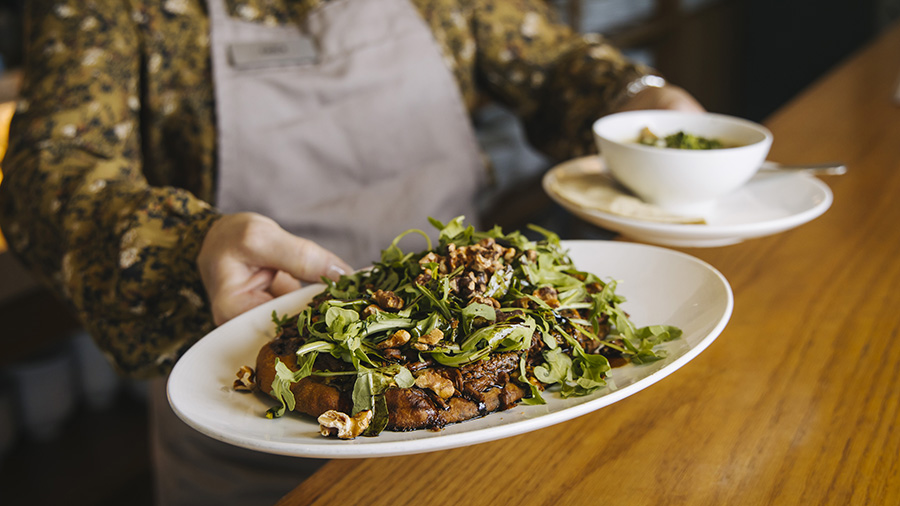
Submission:
[[[388,360],[378,347],[399,330],[410,334],[411,344],[440,330],[441,341],[418,347],[417,353],[422,360],[430,358],[444,366],[464,366],[493,353],[518,353],[519,367],[512,375],[526,388],[523,402],[527,404],[544,403],[541,392],[551,386],[557,386],[564,397],[587,395],[606,386],[609,361],[604,354],[586,352],[587,345],[582,343],[642,364],[662,358],[658,345],[681,336],[680,329],[666,325],[636,328],[620,308],[625,299],[616,293],[616,282],[577,270],[559,237],[550,231],[531,226],[544,236],[531,241],[499,227],[476,231],[464,225],[463,217],[446,224],[429,221],[439,230],[437,247],[432,249],[424,232],[409,230],[382,252],[381,261],[371,269],[338,281],[323,280],[325,290],[297,315],[297,329],[307,339],[297,351],[298,370],[292,372],[276,362],[272,393],[281,406],[267,416],[293,410],[290,386],[311,374],[352,375],[352,414],[372,410],[375,416],[366,434],[377,434],[387,424],[384,392],[415,384],[409,369]],[[413,233],[426,237],[427,250],[408,253],[398,246]],[[485,239],[490,239],[486,244],[502,246],[505,253],[499,266],[480,271],[484,272],[482,298],[468,300],[453,285],[463,267],[448,267],[440,259],[460,248],[485,244]],[[399,296],[402,309],[367,311],[379,289]],[[487,298],[499,302],[500,308],[485,303]],[[272,320],[279,330],[292,321],[274,313]],[[347,370],[314,371],[323,353],[348,364]]]

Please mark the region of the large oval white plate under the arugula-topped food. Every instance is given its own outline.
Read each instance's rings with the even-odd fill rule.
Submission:
[[[668,357],[614,369],[610,387],[586,397],[545,394],[547,404],[519,405],[441,431],[383,432],[352,441],[324,438],[311,417],[290,413],[265,418],[274,401],[231,388],[242,365],[253,365],[272,337],[271,313],[296,312],[321,286],[310,286],[259,306],[217,328],[191,347],[172,371],[169,402],[189,425],[213,438],[261,452],[317,458],[362,458],[467,446],[547,427],[602,408],[668,376],[703,351],[731,317],[733,296],[725,278],[684,253],[606,241],[564,243],[575,264],[603,279],[620,280],[623,307],[637,325],[664,323],[684,331],[666,343]]]

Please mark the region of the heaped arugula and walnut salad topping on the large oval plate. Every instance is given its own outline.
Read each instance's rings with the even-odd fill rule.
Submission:
[[[297,360],[275,361],[267,393],[280,405],[268,416],[294,410],[291,386],[309,379],[341,392],[351,414],[374,413],[366,435],[409,430],[389,422],[393,389],[421,390],[438,415],[465,402],[483,410],[490,389],[507,384],[520,392],[515,402],[542,404],[551,387],[563,397],[590,394],[611,367],[657,360],[657,345],[681,336],[672,326],[636,327],[616,282],[579,270],[552,232],[530,227],[543,236],[532,241],[499,227],[475,231],[462,217],[430,222],[440,230],[436,247],[423,231],[407,231],[370,269],[326,281],[299,314],[273,313],[278,335],[296,341]],[[428,249],[401,250],[408,234],[425,237]]]

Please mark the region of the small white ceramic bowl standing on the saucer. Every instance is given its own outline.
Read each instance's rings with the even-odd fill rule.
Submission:
[[[641,130],[660,138],[685,133],[721,140],[722,149],[674,149],[638,144]],[[619,182],[669,212],[705,215],[716,200],[746,183],[766,159],[772,133],[741,118],[714,113],[629,111],[594,123],[603,160]]]

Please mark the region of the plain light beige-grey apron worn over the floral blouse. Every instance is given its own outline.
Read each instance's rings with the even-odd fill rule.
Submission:
[[[477,218],[477,142],[409,0],[336,0],[300,28],[232,19],[222,0],[208,3],[222,211],[265,214],[357,267],[396,234],[428,230],[429,216]],[[308,42],[314,54],[279,59]],[[194,431],[171,411],[162,380],[150,405],[160,504],[274,504],[323,463]]]

